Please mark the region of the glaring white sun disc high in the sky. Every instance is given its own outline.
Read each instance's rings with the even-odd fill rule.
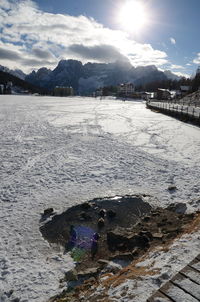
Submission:
[[[144,4],[137,0],[127,1],[120,10],[119,22],[128,31],[140,31],[147,23]]]

